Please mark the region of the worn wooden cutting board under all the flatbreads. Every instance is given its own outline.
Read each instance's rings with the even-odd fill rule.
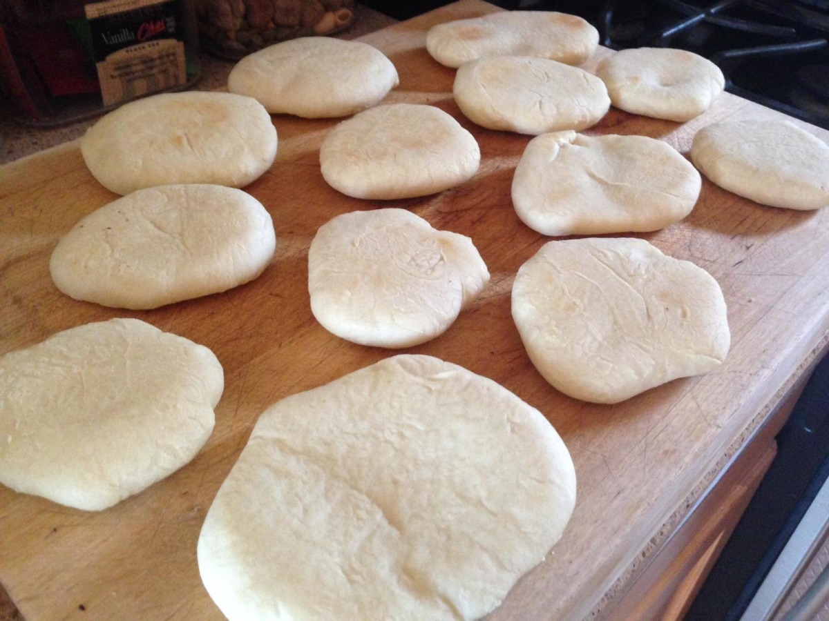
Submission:
[[[548,241],[511,206],[512,172],[530,137],[469,123],[453,103],[454,71],[424,49],[429,26],[495,10],[462,0],[362,39],[400,74],[388,101],[438,106],[473,132],[482,152],[478,174],[416,200],[350,199],[325,184],[318,166],[322,138],[336,122],[275,116],[277,161],[247,190],[273,216],[277,253],[259,279],[221,295],[150,311],[63,296],[49,276],[51,249],[80,217],[115,197],[90,176],[77,142],[0,168],[0,353],[88,321],[133,316],[205,344],[225,368],[211,439],[189,465],[145,492],[83,513],[0,488],[0,582],[26,619],[221,619],[201,585],[196,538],[257,416],[282,397],[396,353],[349,344],[313,319],[308,245],[337,214],[404,207],[473,238],[492,281],[444,335],[406,351],[501,383],[540,409],[573,455],[579,499],[565,536],[492,619],[578,619],[600,607],[695,485],[802,373],[829,330],[829,211],[764,207],[708,181],[683,222],[642,237],[720,282],[732,334],[724,366],[616,406],[565,397],[536,373],[510,315],[516,270]],[[686,153],[708,123],[782,116],[725,94],[690,123],[613,109],[587,133],[657,137]],[[798,124],[829,142],[829,132]]]

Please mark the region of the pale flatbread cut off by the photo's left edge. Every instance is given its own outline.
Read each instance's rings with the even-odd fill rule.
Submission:
[[[135,319],[0,357],[0,483],[97,511],[187,464],[224,388],[210,349]]]

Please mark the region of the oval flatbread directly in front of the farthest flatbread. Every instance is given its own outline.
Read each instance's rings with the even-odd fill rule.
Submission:
[[[610,108],[608,91],[595,75],[528,56],[482,58],[462,65],[453,93],[473,123],[531,135],[589,128]]]

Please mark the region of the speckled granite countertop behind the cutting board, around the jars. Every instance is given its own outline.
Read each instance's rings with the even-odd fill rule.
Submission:
[[[360,4],[356,6],[356,17],[347,30],[339,32],[337,37],[356,39],[390,26],[397,22],[393,17],[375,11]],[[233,61],[221,60],[206,53],[201,54],[201,79],[193,86],[195,90],[216,90],[227,84],[227,75],[234,65]],[[3,102],[4,103],[4,102]],[[62,142],[74,140],[83,135],[86,128],[95,123],[97,118],[89,118],[76,123],[68,123],[56,128],[33,128],[15,122],[7,108],[0,107],[0,164],[17,160],[55,147]],[[2,619],[2,617],[0,617]]]

